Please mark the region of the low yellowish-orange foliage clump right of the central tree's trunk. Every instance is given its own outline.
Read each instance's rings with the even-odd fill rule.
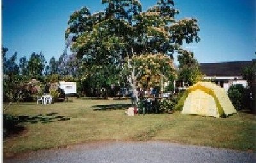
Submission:
[[[131,65],[124,66],[124,75],[129,75],[129,66],[136,67],[136,80],[138,87],[148,89],[150,87],[160,88],[163,83],[173,81],[175,70],[173,59],[164,54],[145,54],[143,56],[134,56],[131,59]]]

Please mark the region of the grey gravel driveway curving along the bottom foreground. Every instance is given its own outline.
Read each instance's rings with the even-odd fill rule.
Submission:
[[[3,162],[256,162],[255,154],[242,151],[189,146],[163,141],[147,142],[95,142],[68,146],[67,148],[42,150]]]

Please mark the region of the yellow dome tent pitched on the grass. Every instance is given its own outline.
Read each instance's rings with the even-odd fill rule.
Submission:
[[[228,116],[236,109],[228,98],[225,89],[211,82],[198,82],[184,93],[186,96],[181,114],[202,116]]]

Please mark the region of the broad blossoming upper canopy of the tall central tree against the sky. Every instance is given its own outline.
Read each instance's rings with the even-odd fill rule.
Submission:
[[[172,0],[157,1],[146,12],[136,0],[103,0],[102,4],[104,12],[91,14],[82,8],[68,21],[65,36],[85,66],[118,69],[125,58],[130,62],[134,56],[161,53],[172,58],[175,52],[183,56],[187,50],[182,45],[200,40],[197,20],[175,20],[179,11]]]

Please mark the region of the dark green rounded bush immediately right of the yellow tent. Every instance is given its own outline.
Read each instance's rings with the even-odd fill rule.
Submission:
[[[248,102],[248,100],[250,100],[250,98],[248,98],[248,89],[244,88],[242,84],[235,84],[230,86],[228,89],[228,97],[230,98],[237,111],[246,109],[250,103]]]

